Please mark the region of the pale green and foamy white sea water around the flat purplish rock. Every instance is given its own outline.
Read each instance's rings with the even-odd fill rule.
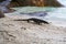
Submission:
[[[52,7],[19,7],[13,8],[16,10],[13,14],[18,15],[29,15],[29,13],[46,11],[46,16],[37,16],[38,19],[45,20],[47,22],[52,22],[53,25],[57,26],[66,26],[66,8],[52,8]],[[24,13],[24,14],[21,14]],[[33,15],[31,15],[33,16]]]

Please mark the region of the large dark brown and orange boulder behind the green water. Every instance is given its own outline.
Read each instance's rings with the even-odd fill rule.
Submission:
[[[12,0],[11,6],[63,7],[57,0]]]

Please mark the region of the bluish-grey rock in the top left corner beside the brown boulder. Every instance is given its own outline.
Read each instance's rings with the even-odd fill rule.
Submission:
[[[4,13],[9,13],[12,12],[14,10],[10,9],[8,6],[10,4],[11,0],[2,0],[0,1],[0,9],[4,12]]]

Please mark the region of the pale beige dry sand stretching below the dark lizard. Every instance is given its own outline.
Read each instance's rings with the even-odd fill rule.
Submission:
[[[66,28],[2,18],[0,44],[66,44]]]

